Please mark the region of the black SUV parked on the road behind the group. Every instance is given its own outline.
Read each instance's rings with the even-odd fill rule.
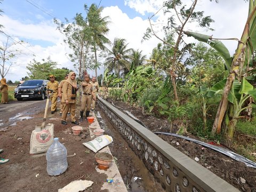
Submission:
[[[44,100],[46,98],[45,92],[48,82],[48,80],[43,79],[27,80],[14,89],[14,98],[18,101],[28,98],[39,98]]]

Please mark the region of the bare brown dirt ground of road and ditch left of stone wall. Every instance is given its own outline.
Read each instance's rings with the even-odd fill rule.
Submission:
[[[0,104],[0,148],[4,149],[0,157],[10,159],[9,162],[0,165],[0,191],[58,191],[69,182],[82,179],[94,182],[93,186],[87,189],[88,191],[107,192],[106,189],[101,189],[103,185],[106,185],[107,175],[97,172],[95,153],[82,145],[83,142],[91,140],[90,135],[86,135],[88,127],[86,121],[80,124],[85,131],[81,135],[75,136],[71,132],[73,124],[70,123],[70,117],[67,119],[68,125],[62,125],[59,111],[55,114],[51,114],[49,111],[47,114],[46,123],[54,124],[54,137],[60,138],[60,142],[67,148],[68,155],[76,154],[75,157],[68,157],[68,169],[65,173],[56,177],[49,176],[46,172],[45,155],[29,154],[30,135],[35,129],[35,125],[43,122],[45,104],[46,100],[13,101],[7,105]],[[57,107],[59,109],[59,103]],[[98,114],[98,112],[96,113]],[[77,117],[79,117],[78,113],[79,109]],[[100,121],[104,126],[108,124],[103,119]],[[109,148],[116,159],[119,172],[127,188],[130,191],[138,192],[162,191],[162,187],[154,182],[150,172],[142,169],[143,165],[140,159],[135,157],[127,143],[113,130],[107,127],[105,129],[114,138],[114,142],[109,145]],[[141,181],[138,179],[136,182],[131,181],[134,176],[143,179]],[[142,187],[143,185],[146,186]]]

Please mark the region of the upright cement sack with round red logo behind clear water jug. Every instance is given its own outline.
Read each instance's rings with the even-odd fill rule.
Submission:
[[[53,124],[45,125],[45,129],[36,125],[36,129],[32,131],[30,137],[30,151],[31,155],[44,153],[49,149],[53,143]]]

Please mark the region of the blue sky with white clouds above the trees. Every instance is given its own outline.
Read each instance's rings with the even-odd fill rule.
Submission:
[[[124,38],[129,43],[129,48],[142,50],[147,55],[161,43],[156,37],[143,41],[143,33],[149,26],[148,18],[161,9],[164,1],[160,0],[3,0],[0,9],[4,12],[0,16],[0,24],[5,34],[11,36],[10,42],[25,41],[25,44],[13,46],[21,50],[12,60],[9,73],[5,76],[13,82],[19,81],[27,76],[26,66],[35,59],[42,62],[42,59],[51,58],[58,63],[58,68],[67,67],[76,70],[73,63],[67,56],[71,50],[63,42],[65,36],[57,30],[53,18],[65,22],[67,18],[73,22],[76,13],[82,13],[86,17],[84,4],[90,6],[92,3],[103,7],[102,17],[109,16],[109,33],[107,37],[113,43],[114,38]],[[183,0],[187,6],[191,0]],[[248,14],[248,2],[243,0],[219,0],[219,3],[209,0],[198,0],[196,11],[204,11],[204,15],[210,15],[215,21],[211,27],[214,31],[206,31],[197,25],[188,25],[185,30],[194,31],[206,35],[213,35],[214,38],[241,38]],[[163,11],[159,11],[153,18],[154,30],[163,38],[161,30],[166,25],[166,18]],[[0,45],[6,43],[6,35],[0,34]],[[186,42],[196,42],[194,38],[186,38]],[[228,48],[230,54],[234,54],[237,47],[236,41],[222,41]],[[0,61],[1,62],[1,61]],[[99,62],[103,63],[104,58]],[[2,64],[2,63],[1,63]],[[10,62],[7,63],[10,65]],[[103,73],[103,66],[98,72]],[[89,74],[95,75],[89,70]]]

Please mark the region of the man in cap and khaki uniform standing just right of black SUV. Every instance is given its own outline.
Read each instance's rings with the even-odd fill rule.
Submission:
[[[55,81],[54,75],[50,75],[50,82],[47,83],[46,89],[51,89],[53,90],[53,93],[50,97],[50,100],[52,102],[51,105],[51,113],[54,114],[56,111],[56,106],[57,106],[57,97],[58,97],[58,86],[59,83]]]

